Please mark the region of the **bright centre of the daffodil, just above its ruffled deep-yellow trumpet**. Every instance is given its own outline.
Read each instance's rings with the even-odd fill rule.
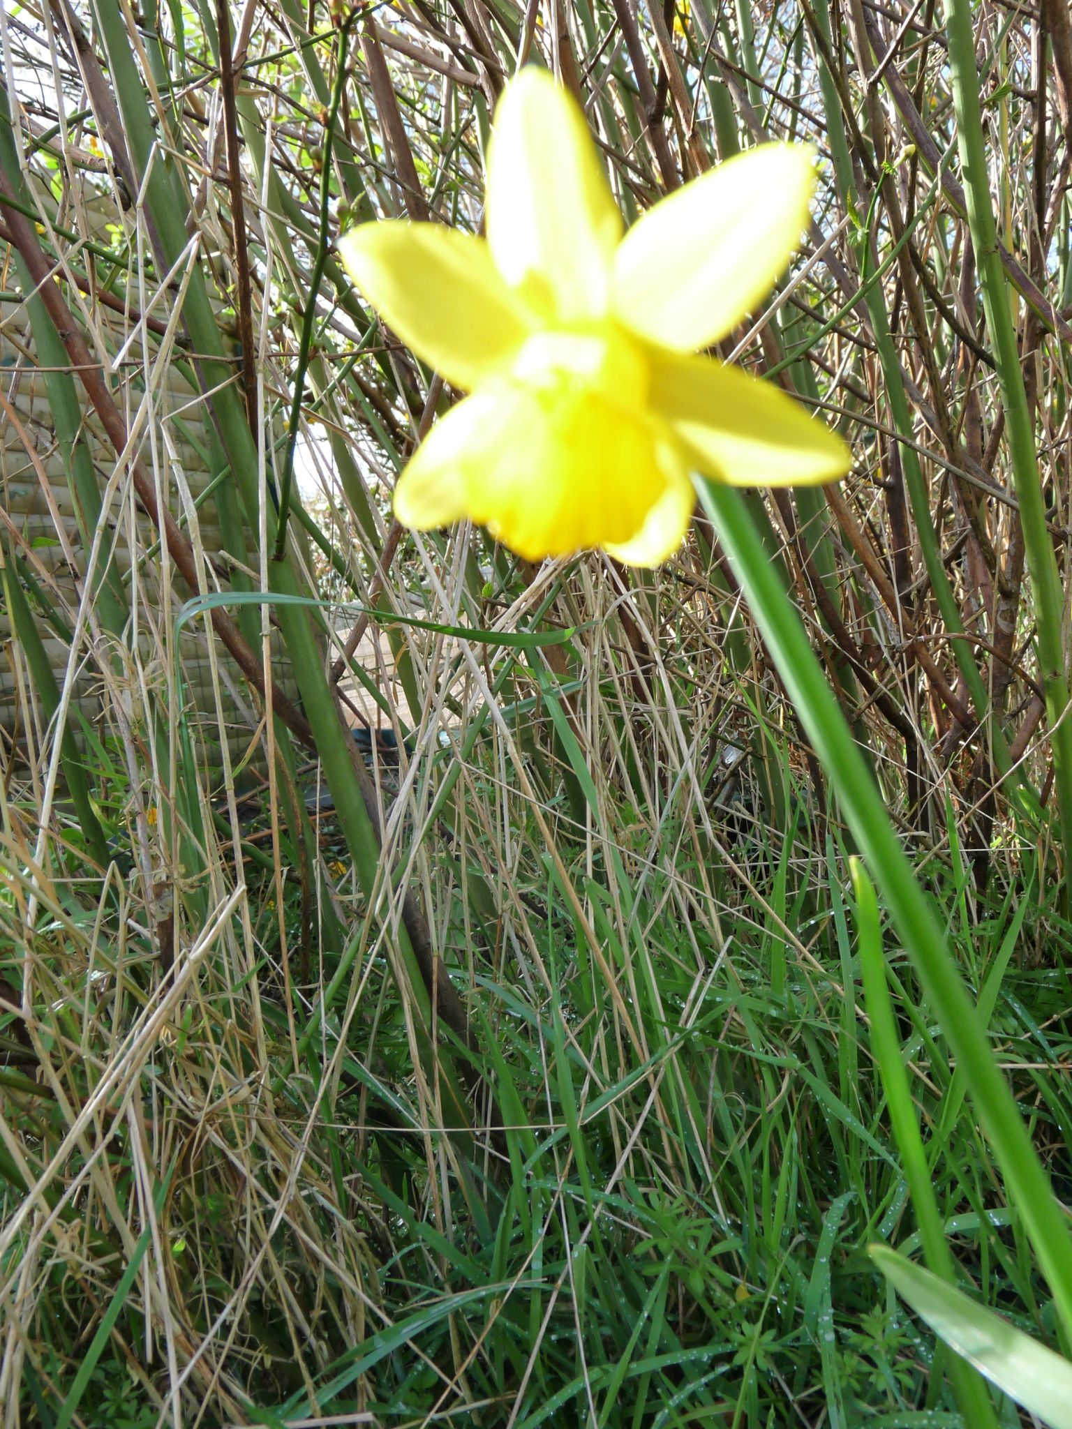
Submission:
[[[599,393],[629,410],[647,402],[647,362],[640,344],[610,323],[533,333],[515,357],[510,376],[532,387]]]

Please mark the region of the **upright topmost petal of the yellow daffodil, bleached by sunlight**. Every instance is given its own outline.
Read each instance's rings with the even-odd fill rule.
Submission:
[[[547,319],[602,317],[620,237],[585,116],[546,70],[523,69],[487,149],[487,243],[500,273]]]

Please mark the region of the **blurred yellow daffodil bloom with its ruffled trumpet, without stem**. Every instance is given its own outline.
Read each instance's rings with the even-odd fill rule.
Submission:
[[[382,221],[339,242],[399,337],[470,393],[399,477],[416,530],[463,517],[529,560],[602,547],[655,566],[693,510],[690,470],[830,482],[849,449],[779,389],[708,357],[766,296],[808,221],[813,151],[763,144],[623,234],[583,114],[552,77],[506,87],[487,239]]]

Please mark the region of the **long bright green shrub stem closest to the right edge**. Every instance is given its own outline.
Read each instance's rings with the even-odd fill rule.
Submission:
[[[1065,897],[1072,902],[1072,722],[1063,717],[1069,703],[1062,640],[1065,594],[1053,544],[1046,530],[1046,503],[1042,496],[1035,452],[1035,423],[1023,386],[1021,354],[1009,307],[1009,289],[998,247],[998,226],[993,219],[991,186],[986,177],[975,33],[968,0],[946,0],[945,24],[968,227],[975,247],[986,326],[993,343],[1002,407],[1005,409],[1012,483],[1021,507],[1023,552],[1035,593],[1035,640],[1053,750],[1053,785],[1058,795],[1065,855]]]

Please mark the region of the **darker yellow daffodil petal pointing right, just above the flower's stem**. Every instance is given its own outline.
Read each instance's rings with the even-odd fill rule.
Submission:
[[[696,470],[730,486],[835,482],[852,464],[846,443],[800,403],[708,357],[659,354],[649,400]]]

